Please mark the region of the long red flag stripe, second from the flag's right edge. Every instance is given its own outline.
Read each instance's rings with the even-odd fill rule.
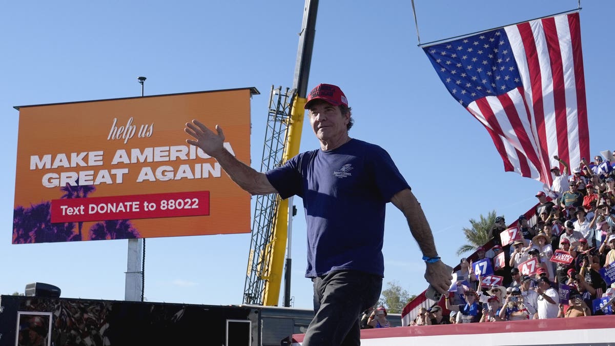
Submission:
[[[555,134],[557,136],[557,152],[564,162],[570,162],[568,151],[568,123],[566,119],[566,84],[564,82],[563,63],[561,62],[560,39],[557,36],[555,18],[542,20],[553,79],[553,99],[555,106]]]

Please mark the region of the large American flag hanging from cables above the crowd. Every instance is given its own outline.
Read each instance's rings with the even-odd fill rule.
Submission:
[[[570,167],[589,157],[578,12],[423,49],[454,99],[485,126],[505,171],[550,186],[554,155]]]

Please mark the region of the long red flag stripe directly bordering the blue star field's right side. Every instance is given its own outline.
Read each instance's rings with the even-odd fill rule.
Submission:
[[[536,50],[536,42],[530,23],[521,23],[517,25],[519,34],[525,49],[525,57],[528,62],[530,73],[531,89],[532,89],[532,109],[534,110],[534,123],[536,131],[538,131],[538,147],[540,148],[541,166],[549,166],[549,150],[547,148],[547,131],[544,123],[544,105],[542,103],[542,74],[538,60],[538,52]],[[546,183],[547,172],[541,174],[541,182]]]

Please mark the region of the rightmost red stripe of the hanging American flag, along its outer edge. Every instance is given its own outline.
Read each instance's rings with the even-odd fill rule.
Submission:
[[[568,15],[570,39],[573,46],[574,79],[577,94],[577,119],[579,119],[579,145],[581,157],[589,158],[589,127],[587,126],[587,101],[585,100],[585,73],[581,50],[581,23],[579,13]]]

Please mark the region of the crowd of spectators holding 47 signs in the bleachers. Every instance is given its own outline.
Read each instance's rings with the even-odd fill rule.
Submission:
[[[408,325],[611,314],[615,152],[608,156],[591,163],[583,158],[571,174],[568,163],[554,156],[554,182],[536,193],[534,210],[508,226],[496,217],[488,243],[455,268],[445,304],[419,308]],[[389,326],[383,307],[365,312],[362,321],[363,328]]]

